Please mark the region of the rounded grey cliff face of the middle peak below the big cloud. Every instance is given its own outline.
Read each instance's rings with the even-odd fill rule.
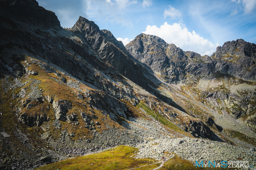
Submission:
[[[183,51],[154,35],[140,34],[125,47],[167,83],[187,82],[215,71],[209,56]]]

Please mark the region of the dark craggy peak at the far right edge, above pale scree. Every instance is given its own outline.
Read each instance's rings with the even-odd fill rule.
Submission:
[[[256,45],[242,39],[228,41],[211,55],[215,69],[245,81],[256,81]]]

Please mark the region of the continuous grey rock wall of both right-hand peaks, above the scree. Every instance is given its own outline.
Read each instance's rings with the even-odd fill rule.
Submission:
[[[256,45],[241,39],[217,47],[211,57],[183,51],[157,36],[146,34],[136,36],[125,48],[168,83],[189,81],[216,71],[242,80],[256,81]]]

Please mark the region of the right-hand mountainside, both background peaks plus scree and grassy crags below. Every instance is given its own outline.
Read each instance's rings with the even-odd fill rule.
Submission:
[[[126,49],[159,79],[190,84],[197,100],[221,114],[241,117],[256,130],[255,44],[242,39],[226,42],[209,57],[183,51],[157,36],[140,34]]]

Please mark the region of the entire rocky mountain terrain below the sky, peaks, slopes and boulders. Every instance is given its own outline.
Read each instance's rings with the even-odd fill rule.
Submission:
[[[124,46],[84,17],[63,29],[35,0],[0,1],[0,19],[0,169],[256,167],[255,44]]]

